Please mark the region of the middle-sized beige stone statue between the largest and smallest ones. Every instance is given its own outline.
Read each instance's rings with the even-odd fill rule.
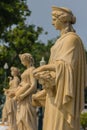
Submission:
[[[37,82],[33,77],[34,59],[31,54],[20,54],[21,63],[27,68],[21,74],[21,82],[15,92],[17,100],[17,126],[18,130],[37,130],[36,108],[32,106],[32,94],[37,90]]]

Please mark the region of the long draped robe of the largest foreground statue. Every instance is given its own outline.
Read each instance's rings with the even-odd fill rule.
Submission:
[[[56,67],[56,95],[46,96],[43,130],[80,130],[86,57],[76,33],[68,32],[56,41],[49,64]]]

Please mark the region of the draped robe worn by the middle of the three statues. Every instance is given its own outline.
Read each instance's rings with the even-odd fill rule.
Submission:
[[[21,87],[26,88],[26,91],[32,86],[34,79],[32,78],[32,71],[34,67],[26,69],[21,75]],[[26,87],[28,84],[28,87]],[[20,89],[21,89],[20,87]],[[25,94],[24,99],[17,104],[17,126],[18,130],[37,130],[37,115],[36,108],[32,106],[32,94],[36,92],[36,86],[31,93]],[[20,93],[21,95],[21,93]]]

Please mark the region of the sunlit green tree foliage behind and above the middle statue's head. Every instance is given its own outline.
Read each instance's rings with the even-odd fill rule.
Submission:
[[[2,63],[3,59],[9,63],[9,67],[13,64],[20,67],[19,54],[31,53],[35,59],[35,65],[39,66],[41,57],[44,56],[48,62],[50,48],[54,40],[49,40],[47,45],[38,40],[39,35],[43,33],[41,27],[35,25],[21,24],[12,30],[4,33],[4,46],[1,47]],[[0,57],[0,58],[1,58]]]

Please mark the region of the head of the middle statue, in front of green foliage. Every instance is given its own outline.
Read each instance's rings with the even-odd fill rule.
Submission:
[[[34,59],[30,53],[19,54],[19,58],[25,66],[26,64],[30,64],[30,66],[34,65]]]

